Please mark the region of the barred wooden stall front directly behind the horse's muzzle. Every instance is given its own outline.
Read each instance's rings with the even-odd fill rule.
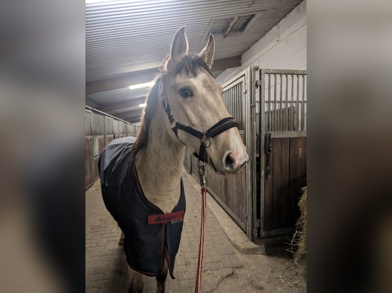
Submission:
[[[238,131],[246,145],[249,162],[235,175],[217,175],[210,168],[206,169],[207,189],[211,196],[225,209],[245,233],[253,240],[257,230],[253,230],[256,221],[256,182],[253,172],[256,172],[254,153],[255,142],[255,70],[249,67],[223,85],[223,102],[227,111],[238,122]],[[197,160],[191,158],[191,173],[199,180]],[[254,215],[254,216],[253,216]]]

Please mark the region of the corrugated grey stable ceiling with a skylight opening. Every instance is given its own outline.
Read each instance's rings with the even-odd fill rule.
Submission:
[[[86,3],[86,82],[158,67],[169,52],[171,40],[186,26],[190,51],[199,52],[202,42],[216,23],[215,59],[243,54],[273,26],[292,11],[300,0],[254,1],[109,1]],[[231,17],[260,13],[246,33],[235,32],[223,38]],[[215,23],[215,26],[212,26]],[[216,73],[216,72],[215,72]],[[122,92],[122,93],[121,93]],[[132,99],[136,93],[124,90],[86,95],[91,105]],[[116,114],[116,111],[112,112]]]

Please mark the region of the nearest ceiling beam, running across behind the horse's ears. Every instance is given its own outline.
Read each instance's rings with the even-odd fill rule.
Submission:
[[[241,55],[214,60],[212,71],[223,70],[231,67],[241,66]],[[129,72],[126,75],[86,82],[86,94],[125,88],[132,84],[151,81],[158,72],[158,67],[147,70]]]

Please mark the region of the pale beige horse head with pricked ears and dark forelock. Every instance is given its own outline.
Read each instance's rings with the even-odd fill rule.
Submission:
[[[199,157],[203,141],[206,146],[203,155],[205,161],[217,173],[226,175],[238,172],[249,157],[236,127],[231,126],[212,138],[205,135],[211,127],[221,127],[221,121],[230,123],[232,120],[225,119],[231,115],[222,100],[222,86],[212,75],[214,51],[214,37],[210,34],[207,45],[198,55],[189,54],[185,27],[177,31],[164,64],[162,104],[166,111],[169,109],[167,131],[170,135],[177,136],[190,153]],[[192,131],[177,129],[176,124],[204,135],[198,137]],[[176,128],[174,132],[173,127]]]

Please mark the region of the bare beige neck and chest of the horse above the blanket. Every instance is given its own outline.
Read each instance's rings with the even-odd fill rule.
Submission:
[[[169,135],[169,120],[159,105],[160,101],[151,118],[146,147],[137,153],[135,163],[147,200],[169,213],[181,196],[185,146],[173,134]]]

